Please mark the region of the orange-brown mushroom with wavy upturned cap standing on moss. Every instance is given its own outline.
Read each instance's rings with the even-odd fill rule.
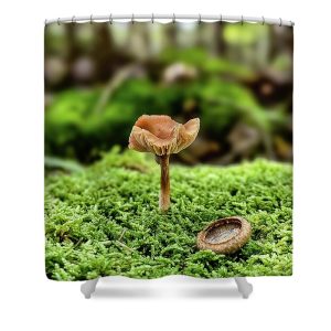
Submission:
[[[161,167],[160,210],[170,206],[169,158],[190,146],[197,136],[200,119],[182,125],[167,115],[142,115],[134,125],[129,149],[156,154]]]

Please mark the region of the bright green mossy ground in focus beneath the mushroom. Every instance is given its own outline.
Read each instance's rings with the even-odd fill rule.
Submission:
[[[86,170],[45,181],[46,275],[83,280],[122,275],[291,275],[292,167],[171,164],[171,210],[158,210],[160,171],[147,154],[114,149]],[[241,215],[250,241],[233,255],[200,252],[210,222]]]

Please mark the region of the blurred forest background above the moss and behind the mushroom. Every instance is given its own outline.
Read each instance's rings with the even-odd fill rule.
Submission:
[[[200,117],[177,162],[292,161],[292,28],[53,23],[44,65],[47,168],[127,148],[142,114]]]

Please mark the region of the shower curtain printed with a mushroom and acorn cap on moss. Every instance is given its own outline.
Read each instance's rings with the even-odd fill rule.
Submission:
[[[289,276],[292,28],[45,26],[54,280]]]

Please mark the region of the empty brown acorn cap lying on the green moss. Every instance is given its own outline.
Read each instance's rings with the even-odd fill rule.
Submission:
[[[250,224],[245,218],[239,216],[221,218],[197,234],[196,245],[199,249],[231,254],[242,248],[250,234]]]

